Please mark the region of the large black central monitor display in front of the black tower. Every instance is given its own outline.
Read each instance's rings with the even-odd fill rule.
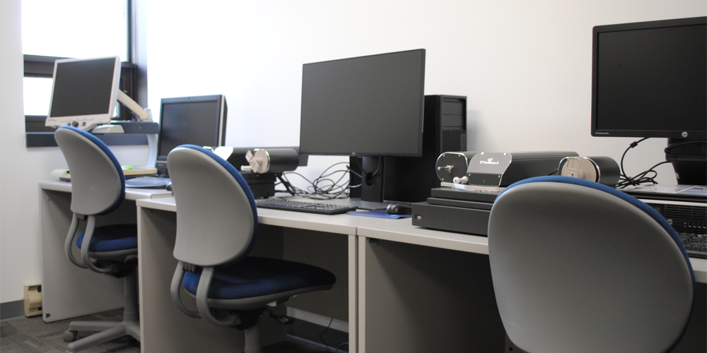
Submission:
[[[425,49],[304,64],[300,153],[422,155]]]

